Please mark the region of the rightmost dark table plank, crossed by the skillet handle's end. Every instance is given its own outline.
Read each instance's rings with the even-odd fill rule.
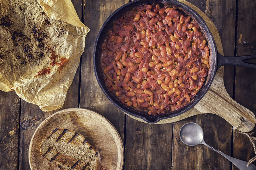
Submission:
[[[256,54],[256,2],[238,1],[237,56]],[[254,60],[255,63],[255,60]],[[236,67],[235,100],[256,114],[256,69]],[[255,128],[253,130],[255,136]],[[255,154],[248,138],[235,133],[233,157],[249,161]],[[255,164],[255,162],[254,162]],[[234,170],[238,168],[233,166]]]

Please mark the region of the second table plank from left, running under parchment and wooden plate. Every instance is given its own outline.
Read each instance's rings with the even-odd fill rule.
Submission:
[[[72,0],[73,5],[80,19],[82,19],[83,0]],[[80,66],[78,67],[75,78],[68,90],[64,105],[61,109],[77,108],[79,96],[79,76]],[[21,101],[21,121],[20,121],[20,170],[30,169],[28,153],[31,137],[38,125],[48,116],[58,110],[43,112],[38,106],[26,101]]]

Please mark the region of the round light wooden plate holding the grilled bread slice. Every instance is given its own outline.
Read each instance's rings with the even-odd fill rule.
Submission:
[[[59,170],[40,154],[40,144],[55,128],[67,128],[80,133],[98,148],[101,164],[108,170],[121,170],[124,148],[117,129],[102,115],[87,109],[66,109],[46,118],[35,130],[29,146],[29,164],[32,170]]]

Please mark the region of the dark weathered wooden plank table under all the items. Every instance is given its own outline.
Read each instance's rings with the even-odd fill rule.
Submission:
[[[256,2],[253,0],[188,0],[216,25],[226,56],[256,54]],[[204,145],[186,146],[179,130],[187,122],[203,127],[205,142],[225,154],[248,161],[255,154],[247,137],[234,133],[231,125],[213,114],[201,114],[162,125],[150,125],[126,116],[105,97],[93,71],[96,35],[107,17],[129,0],[72,0],[81,21],[91,31],[85,51],[62,109],[94,110],[117,128],[125,146],[124,169],[227,170],[237,168]],[[227,92],[241,105],[256,113],[256,70],[225,66]],[[54,111],[20,99],[15,92],[0,92],[0,169],[29,170],[28,150],[36,127]],[[253,130],[255,131],[255,129]],[[253,134],[255,136],[255,134]]]

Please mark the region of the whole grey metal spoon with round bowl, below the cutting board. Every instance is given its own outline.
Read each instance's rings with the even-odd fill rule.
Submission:
[[[214,149],[213,147],[206,144],[203,140],[203,129],[200,125],[196,123],[187,123],[181,127],[180,130],[180,137],[181,141],[189,146],[195,146],[197,144],[204,144],[208,148],[214,150],[215,152],[218,152],[222,156],[224,156],[226,159],[231,161],[236,167],[238,167],[240,170],[256,170],[256,166],[254,164],[250,164],[249,167],[247,167],[246,161],[242,161],[236,158],[232,158],[221,151]]]

